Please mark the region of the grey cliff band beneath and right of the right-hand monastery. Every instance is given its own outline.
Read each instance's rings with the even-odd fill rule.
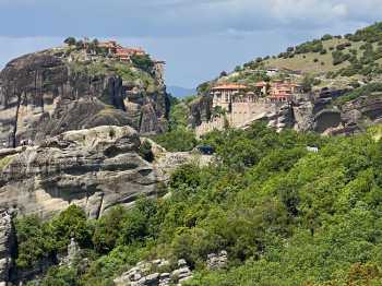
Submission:
[[[346,90],[327,90],[317,94],[295,96],[290,104],[277,106],[275,103],[258,104],[251,111],[252,120],[266,121],[270,127],[280,131],[294,128],[297,131],[315,131],[323,134],[350,134],[360,132],[365,127],[379,123],[382,120],[382,94],[360,96],[354,100],[336,106],[335,99],[343,96]],[[212,103],[205,99],[194,100],[190,105],[190,122],[195,126],[196,134],[203,134],[213,129],[223,129],[224,117],[207,118]],[[230,117],[235,115],[230,115]],[[228,122],[235,118],[227,116]],[[234,124],[235,126],[235,124]]]

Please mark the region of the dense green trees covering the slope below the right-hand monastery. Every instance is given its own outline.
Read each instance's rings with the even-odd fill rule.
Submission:
[[[99,221],[76,206],[49,222],[20,218],[17,267],[64,252],[74,237],[88,265],[52,266],[38,285],[114,285],[155,258],[186,259],[194,277],[183,285],[382,284],[382,142],[372,131],[323,138],[255,123],[201,144],[215,147],[214,162],[177,169],[166,199],[141,198]],[[220,250],[228,267],[207,271],[206,255]]]

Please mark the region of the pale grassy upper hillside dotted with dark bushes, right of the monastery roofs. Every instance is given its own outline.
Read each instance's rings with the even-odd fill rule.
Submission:
[[[325,35],[321,39],[289,47],[277,57],[258,59],[244,67],[273,67],[331,76],[378,75],[382,73],[382,23],[345,36]]]

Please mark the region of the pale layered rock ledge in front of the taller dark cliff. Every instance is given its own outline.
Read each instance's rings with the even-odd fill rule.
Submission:
[[[17,154],[5,152],[0,206],[49,217],[74,203],[96,218],[140,194],[156,195],[162,178],[139,155],[140,145],[130,127],[97,127],[62,133]]]

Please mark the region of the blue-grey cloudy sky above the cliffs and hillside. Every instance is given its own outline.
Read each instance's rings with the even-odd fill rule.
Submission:
[[[116,39],[195,87],[256,57],[382,21],[382,0],[0,0],[0,69],[68,36]]]

